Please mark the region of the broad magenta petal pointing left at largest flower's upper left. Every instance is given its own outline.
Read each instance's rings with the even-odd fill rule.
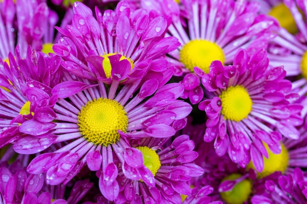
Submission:
[[[57,95],[59,98],[64,99],[90,87],[92,86],[80,81],[64,81],[55,85],[51,92],[53,95]]]

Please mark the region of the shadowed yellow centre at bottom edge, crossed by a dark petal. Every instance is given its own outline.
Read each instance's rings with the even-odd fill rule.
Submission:
[[[240,174],[230,174],[225,177],[224,180],[235,180],[240,178]],[[235,186],[230,191],[221,192],[220,195],[222,199],[227,204],[243,204],[246,202],[252,192],[252,182],[251,180],[244,179],[241,182],[235,184]]]

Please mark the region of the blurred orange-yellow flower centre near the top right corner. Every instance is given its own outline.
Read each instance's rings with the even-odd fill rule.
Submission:
[[[289,33],[295,34],[298,32],[295,20],[286,5],[278,4],[269,12],[270,16],[277,19],[281,27],[285,28]]]

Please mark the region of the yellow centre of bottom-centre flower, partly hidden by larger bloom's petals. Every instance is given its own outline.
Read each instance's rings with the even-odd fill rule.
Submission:
[[[144,166],[146,166],[153,173],[153,176],[155,176],[161,166],[159,155],[146,146],[137,147],[136,149],[143,153]]]

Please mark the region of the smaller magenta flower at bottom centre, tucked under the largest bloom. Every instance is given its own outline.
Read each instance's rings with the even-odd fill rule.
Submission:
[[[127,168],[138,174],[128,178],[119,172],[120,194],[116,203],[181,204],[180,194],[191,194],[187,181],[204,171],[191,162],[198,156],[188,135],[180,135],[171,144],[167,139],[143,138],[133,141],[125,151]],[[125,169],[125,168],[124,168]]]

